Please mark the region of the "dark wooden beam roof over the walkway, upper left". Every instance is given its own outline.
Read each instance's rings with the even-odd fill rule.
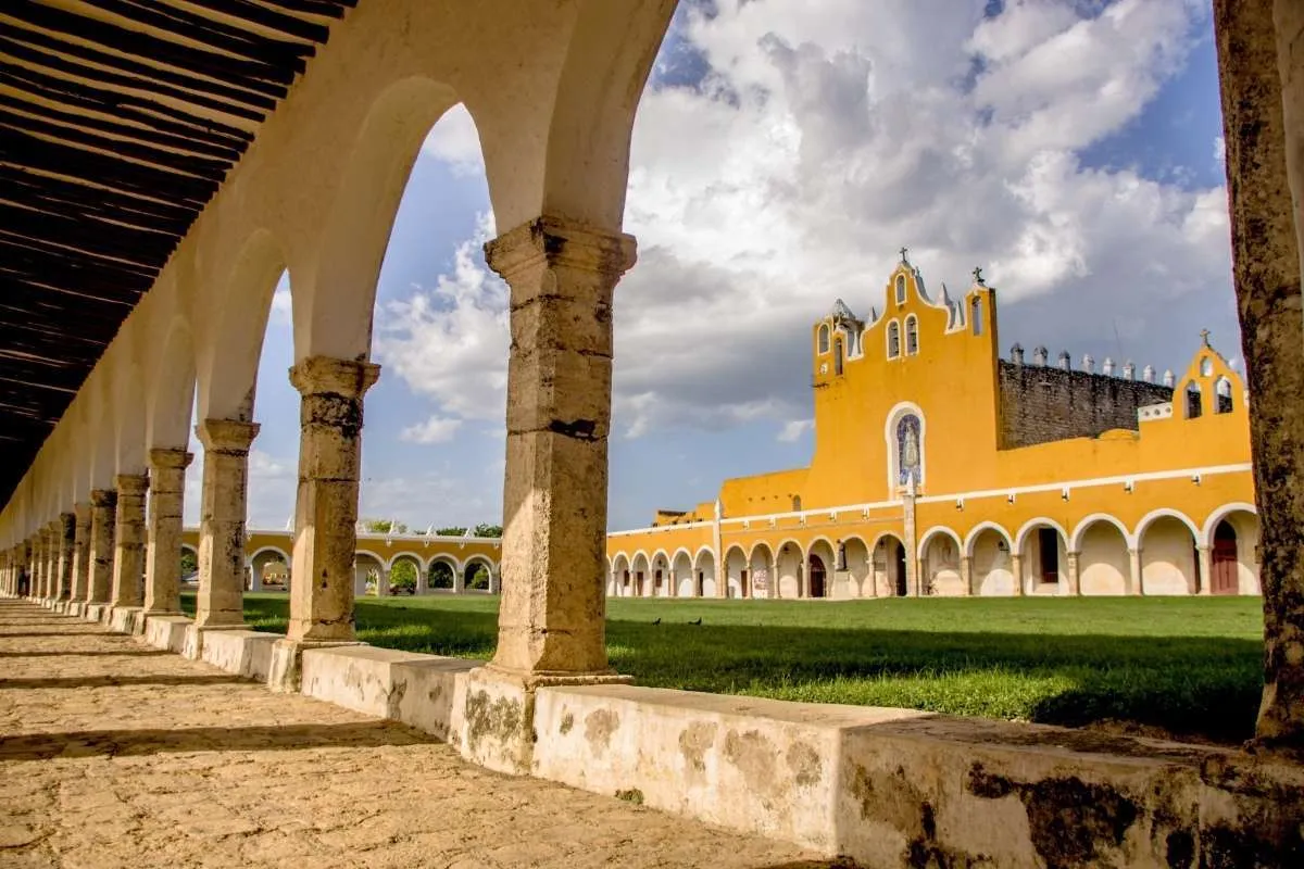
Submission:
[[[356,3],[0,4],[0,502]]]

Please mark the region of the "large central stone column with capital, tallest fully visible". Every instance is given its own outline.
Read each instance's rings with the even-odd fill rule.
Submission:
[[[539,218],[485,245],[511,288],[503,593],[493,666],[612,675],[602,585],[612,297],[631,236]]]

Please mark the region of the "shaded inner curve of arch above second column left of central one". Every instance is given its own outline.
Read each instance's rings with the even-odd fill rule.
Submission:
[[[226,292],[210,293],[214,309],[203,313],[206,327],[196,336],[200,341],[196,348],[200,421],[253,422],[258,360],[271,298],[287,263],[276,237],[267,229],[256,229],[240,246],[222,281]],[[293,301],[293,280],[289,287]]]

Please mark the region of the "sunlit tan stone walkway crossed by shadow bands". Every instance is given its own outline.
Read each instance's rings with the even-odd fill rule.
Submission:
[[[0,866],[828,866],[0,599]]]

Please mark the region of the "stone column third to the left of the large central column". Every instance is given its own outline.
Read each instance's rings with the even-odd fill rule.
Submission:
[[[185,469],[194,456],[185,449],[150,449],[150,528],[145,552],[145,612],[181,611],[181,511]]]

